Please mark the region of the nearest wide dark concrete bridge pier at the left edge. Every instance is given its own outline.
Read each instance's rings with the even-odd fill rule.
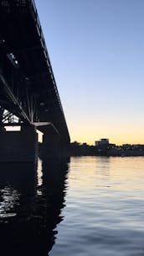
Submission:
[[[0,131],[0,162],[36,162],[38,135],[35,127],[23,126],[21,131]]]

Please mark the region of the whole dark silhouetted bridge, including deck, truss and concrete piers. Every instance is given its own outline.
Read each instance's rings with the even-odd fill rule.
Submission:
[[[32,0],[0,0],[0,162],[65,157],[69,131]],[[8,131],[7,126],[21,130]]]

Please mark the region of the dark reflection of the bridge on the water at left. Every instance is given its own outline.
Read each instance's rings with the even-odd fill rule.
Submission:
[[[67,164],[0,163],[1,255],[48,255],[62,221]]]

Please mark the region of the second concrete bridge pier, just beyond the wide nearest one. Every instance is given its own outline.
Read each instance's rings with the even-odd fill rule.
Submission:
[[[60,138],[53,127],[47,126],[43,136],[42,157],[44,161],[59,162]]]

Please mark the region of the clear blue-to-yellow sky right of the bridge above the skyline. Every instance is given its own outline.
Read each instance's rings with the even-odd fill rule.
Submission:
[[[35,3],[71,141],[144,144],[144,1]]]

